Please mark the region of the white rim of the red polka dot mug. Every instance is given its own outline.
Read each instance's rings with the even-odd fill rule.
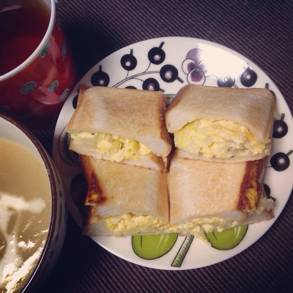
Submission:
[[[47,44],[50,36],[52,35],[54,24],[55,24],[55,18],[56,18],[55,0],[50,0],[50,3],[51,3],[50,21],[49,21],[47,31],[46,31],[44,37],[42,38],[42,41],[39,43],[38,47],[34,50],[34,52],[23,63],[21,63],[20,65],[15,67],[13,70],[11,70],[3,75],[0,75],[0,82],[6,80],[6,79],[12,77],[13,75],[16,75],[20,71],[22,71],[29,64],[31,64],[38,57],[38,55],[42,52],[42,50],[45,47],[45,45]]]

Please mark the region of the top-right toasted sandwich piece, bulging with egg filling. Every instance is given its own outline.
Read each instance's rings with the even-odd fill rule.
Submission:
[[[179,157],[243,162],[270,154],[274,108],[268,89],[186,85],[165,119]]]

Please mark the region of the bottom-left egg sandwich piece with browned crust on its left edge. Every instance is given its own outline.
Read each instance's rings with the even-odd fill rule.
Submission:
[[[81,156],[88,192],[82,233],[170,233],[167,172]]]

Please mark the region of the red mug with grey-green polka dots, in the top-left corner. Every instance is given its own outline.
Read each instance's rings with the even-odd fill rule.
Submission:
[[[5,43],[0,42],[0,55],[2,55],[0,56],[2,59],[0,62],[0,113],[15,118],[30,130],[50,127],[56,123],[62,105],[75,83],[74,63],[65,40],[55,0],[39,1],[48,11],[49,23],[49,26],[48,23],[46,24],[44,35],[39,42],[37,43],[35,38],[29,38],[28,34],[21,36],[22,45],[16,42],[14,46],[16,48],[13,48],[13,52],[14,49],[16,52],[15,58],[9,54],[7,60],[1,54],[1,49],[5,45],[12,46],[11,42],[15,40],[13,36],[11,38],[9,36],[7,41],[5,39]],[[8,13],[13,12],[10,10],[18,7],[20,6],[13,5],[3,8],[0,4],[0,16],[4,13],[8,16]],[[41,18],[38,17],[38,20],[41,21]],[[36,47],[33,47],[31,55],[21,64],[15,64],[16,67],[9,69],[6,65],[17,62],[21,50],[26,50],[29,45],[33,45],[32,42]],[[4,68],[9,71],[5,72]]]

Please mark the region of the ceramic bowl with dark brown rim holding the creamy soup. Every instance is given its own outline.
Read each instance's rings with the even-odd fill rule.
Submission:
[[[20,292],[36,292],[60,254],[67,226],[67,203],[62,179],[51,159],[38,140],[27,128],[12,118],[0,114],[0,139],[13,141],[29,150],[44,165],[51,188],[51,218],[48,235],[37,265]]]

